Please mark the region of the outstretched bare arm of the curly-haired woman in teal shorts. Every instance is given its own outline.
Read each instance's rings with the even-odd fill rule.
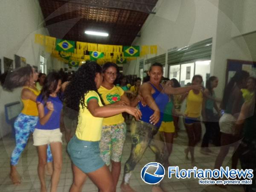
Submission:
[[[97,99],[90,99],[87,103],[88,110],[95,117],[109,117],[114,116],[123,112],[127,112],[139,120],[142,116],[141,112],[137,108],[129,106],[109,106],[105,105],[100,107]]]

